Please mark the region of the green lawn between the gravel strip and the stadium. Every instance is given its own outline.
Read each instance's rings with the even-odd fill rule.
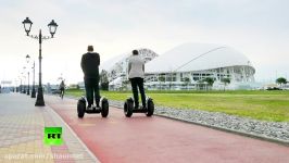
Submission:
[[[67,90],[79,97],[84,90]],[[101,91],[112,100],[124,101],[130,91]],[[148,91],[156,105],[204,110],[272,122],[289,122],[289,91]]]

